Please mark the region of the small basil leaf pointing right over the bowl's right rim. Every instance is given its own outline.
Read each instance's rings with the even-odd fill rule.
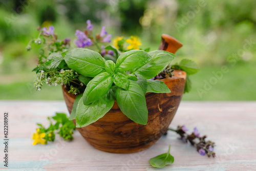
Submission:
[[[163,81],[160,80],[147,80],[146,93],[170,93],[170,89],[166,86]]]

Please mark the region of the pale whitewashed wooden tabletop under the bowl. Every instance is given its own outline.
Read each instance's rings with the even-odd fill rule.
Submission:
[[[181,102],[170,126],[185,124],[191,131],[197,126],[216,142],[216,158],[200,156],[173,132],[134,154],[99,151],[78,131],[71,142],[57,138],[47,145],[32,146],[36,123],[47,124],[47,116],[55,112],[68,113],[65,102],[0,101],[0,112],[0,170],[4,168],[4,112],[9,112],[9,170],[256,170],[256,102]],[[168,144],[174,164],[153,168],[149,159],[166,153]]]

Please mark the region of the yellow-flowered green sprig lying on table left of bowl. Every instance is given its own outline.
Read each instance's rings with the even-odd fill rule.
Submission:
[[[48,141],[55,140],[55,133],[59,134],[64,140],[73,139],[73,130],[76,129],[73,121],[70,121],[66,114],[56,113],[53,117],[48,117],[50,121],[50,126],[46,129],[40,123],[37,123],[39,126],[36,129],[36,132],[33,134],[32,139],[34,140],[33,145],[36,144],[47,144]]]

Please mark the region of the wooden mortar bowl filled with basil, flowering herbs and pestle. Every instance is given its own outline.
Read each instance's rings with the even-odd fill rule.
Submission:
[[[94,147],[142,151],[168,130],[184,89],[190,88],[186,75],[197,72],[195,63],[183,59],[171,65],[182,44],[168,35],[162,35],[161,50],[149,52],[139,49],[136,36],[117,37],[112,46],[105,27],[94,35],[90,20],[87,24],[84,32],[76,31],[77,48],[70,48],[68,38],[59,40],[53,26],[38,29],[30,44],[48,51],[39,50],[34,87],[61,84],[70,120]]]

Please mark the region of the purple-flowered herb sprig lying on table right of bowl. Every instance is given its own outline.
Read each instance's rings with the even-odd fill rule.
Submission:
[[[189,142],[191,145],[195,146],[198,153],[202,156],[207,154],[208,157],[212,156],[215,157],[216,154],[214,152],[215,142],[212,141],[206,141],[206,135],[200,136],[200,133],[197,129],[197,127],[194,128],[193,133],[188,134],[187,127],[185,125],[178,126],[177,129],[169,129],[170,131],[174,131],[177,134],[180,135],[180,138],[183,140],[183,142],[187,143]]]

